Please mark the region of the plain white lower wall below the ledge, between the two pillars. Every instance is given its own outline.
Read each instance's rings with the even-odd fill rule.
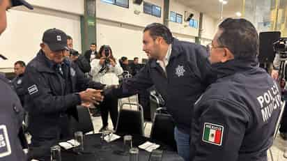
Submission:
[[[97,23],[98,49],[101,45],[110,45],[116,59],[121,59],[121,56],[129,59],[137,56],[139,60],[147,57],[142,51],[143,28],[105,20]]]

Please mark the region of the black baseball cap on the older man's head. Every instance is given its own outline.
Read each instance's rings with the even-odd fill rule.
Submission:
[[[67,35],[59,29],[47,29],[42,37],[42,42],[46,43],[52,52],[67,49]]]

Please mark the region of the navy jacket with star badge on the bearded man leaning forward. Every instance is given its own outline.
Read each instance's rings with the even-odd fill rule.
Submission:
[[[208,53],[201,45],[173,39],[166,74],[155,59],[150,59],[134,77],[125,79],[115,95],[138,93],[155,85],[166,101],[176,127],[189,133],[194,102],[206,88],[210,66]]]

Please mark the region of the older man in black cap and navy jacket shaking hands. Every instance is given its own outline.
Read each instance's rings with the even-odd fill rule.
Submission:
[[[75,63],[65,59],[67,36],[59,29],[48,29],[40,51],[28,63],[24,75],[27,91],[25,109],[29,113],[31,153],[35,158],[49,155],[49,148],[60,139],[72,137],[70,117],[78,119],[77,105],[98,103],[104,85],[84,77]],[[96,90],[99,89],[99,90]],[[80,92],[79,92],[80,91]],[[39,152],[40,154],[36,153]]]

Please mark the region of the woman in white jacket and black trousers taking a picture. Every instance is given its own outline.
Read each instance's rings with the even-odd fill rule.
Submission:
[[[106,85],[118,84],[118,75],[123,73],[123,69],[120,64],[116,62],[116,59],[111,52],[111,47],[102,45],[100,50],[91,62],[91,75],[93,81],[101,82]],[[118,98],[105,97],[103,102],[100,104],[100,112],[102,116],[102,128],[100,132],[108,129],[108,116],[111,116],[111,122],[116,128],[116,121],[118,118]]]

